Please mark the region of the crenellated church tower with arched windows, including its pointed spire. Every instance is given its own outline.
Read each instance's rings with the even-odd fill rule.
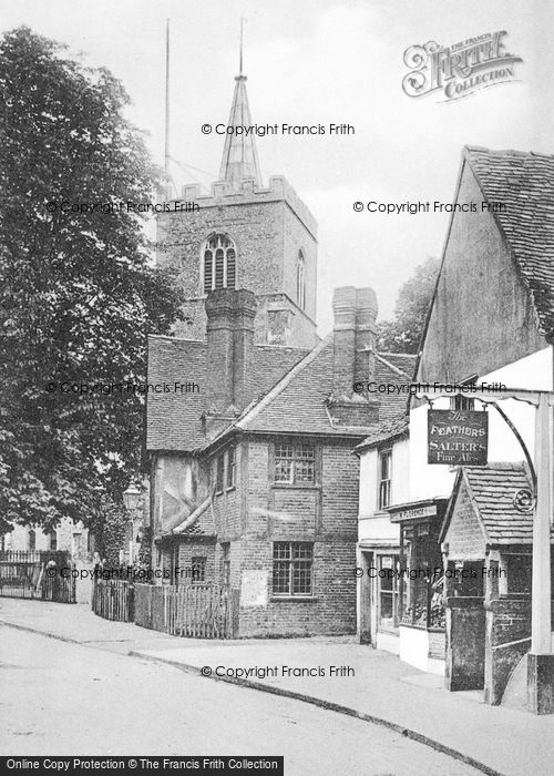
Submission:
[[[229,127],[253,124],[246,75],[235,79]],[[183,186],[195,210],[157,218],[157,262],[179,270],[185,314],[177,336],[204,339],[205,299],[215,288],[246,288],[257,300],[257,344],[312,347],[316,335],[317,224],[281,175],[263,185],[254,134],[225,136],[219,181],[209,194]]]

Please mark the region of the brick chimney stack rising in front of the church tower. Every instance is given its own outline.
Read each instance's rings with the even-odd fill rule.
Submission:
[[[243,410],[252,398],[256,297],[219,288],[206,298],[206,394],[208,412]]]

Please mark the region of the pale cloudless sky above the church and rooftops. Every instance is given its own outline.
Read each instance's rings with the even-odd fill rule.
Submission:
[[[550,0],[0,0],[1,31],[25,24],[109,68],[130,119],[164,154],[165,24],[171,19],[172,174],[181,187],[217,178],[238,72],[240,18],[253,121],[353,125],[353,135],[257,139],[264,183],[285,175],[318,221],[320,334],[332,289],[371,286],[380,317],[427,256],[440,256],[448,214],[355,212],[355,202],[453,201],[464,145],[553,153],[554,3]],[[505,30],[522,58],[512,83],[445,101],[402,91],[407,49],[449,47]],[[202,172],[199,172],[202,171]]]

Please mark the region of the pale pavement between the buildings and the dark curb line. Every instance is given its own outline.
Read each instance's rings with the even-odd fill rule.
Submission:
[[[489,706],[480,693],[449,693],[440,676],[350,636],[179,639],[133,623],[102,620],[84,604],[17,599],[0,599],[1,623],[384,725],[482,773],[554,773],[554,716]]]

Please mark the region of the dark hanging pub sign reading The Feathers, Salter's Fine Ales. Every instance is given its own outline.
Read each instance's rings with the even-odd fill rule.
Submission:
[[[428,463],[486,466],[489,413],[476,410],[430,409]]]

